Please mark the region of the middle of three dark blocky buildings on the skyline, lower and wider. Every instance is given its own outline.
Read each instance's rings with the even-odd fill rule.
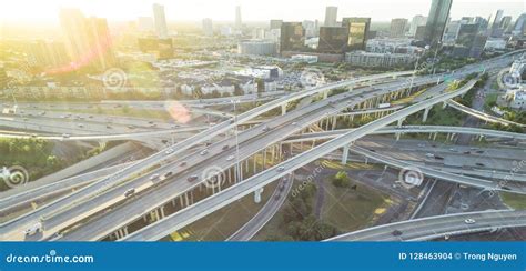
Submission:
[[[347,28],[321,27],[317,50],[326,53],[343,53],[347,50]]]

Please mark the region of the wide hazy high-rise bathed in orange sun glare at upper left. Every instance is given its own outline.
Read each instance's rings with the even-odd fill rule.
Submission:
[[[60,23],[74,68],[92,66],[97,69],[108,69],[114,64],[115,58],[105,19],[88,19],[78,9],[62,9]]]

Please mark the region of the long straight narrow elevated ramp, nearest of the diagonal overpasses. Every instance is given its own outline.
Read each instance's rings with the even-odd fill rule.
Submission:
[[[338,138],[332,139],[321,145],[317,145],[302,154],[295,155],[279,165],[274,165],[263,172],[260,172],[241,183],[237,183],[231,188],[227,188],[214,195],[211,195],[204,200],[196,202],[193,205],[190,205],[179,212],[175,212],[163,220],[160,220],[155,223],[152,223],[139,231],[135,231],[128,237],[123,238],[123,241],[153,241],[159,240],[171,232],[181,229],[184,225],[190,224],[191,222],[196,221],[200,218],[203,218],[211,212],[219,210],[226,204],[232,203],[241,199],[242,197],[256,191],[257,189],[273,182],[274,180],[282,178],[295,169],[299,169],[310,162],[315,161],[320,157],[326,155],[332,151],[350,144],[351,142],[371,133],[374,130],[377,130],[382,127],[385,127],[394,121],[397,121],[402,118],[405,118],[408,114],[415,113],[419,110],[423,110],[432,104],[445,101],[453,97],[465,93],[475,84],[475,81],[472,80],[466,83],[463,88],[439,94],[437,97],[427,99],[419,103],[413,104],[405,109],[402,109],[395,113],[383,117],[378,120],[370,122],[354,131],[347,132]]]

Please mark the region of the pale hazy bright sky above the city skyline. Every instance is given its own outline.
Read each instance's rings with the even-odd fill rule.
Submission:
[[[108,18],[109,21],[134,20],[152,16],[152,3],[164,4],[169,21],[200,21],[212,18],[233,21],[235,6],[241,6],[243,21],[323,20],[326,6],[338,7],[342,17],[371,17],[373,21],[392,18],[411,19],[427,16],[431,0],[6,0],[0,3],[0,20],[48,21],[58,23],[58,11],[80,8],[85,16]],[[526,0],[453,0],[451,17],[483,16],[487,18],[497,9],[517,18],[526,10]]]

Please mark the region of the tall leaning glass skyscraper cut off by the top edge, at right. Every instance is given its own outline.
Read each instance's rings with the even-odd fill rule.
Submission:
[[[449,18],[453,0],[433,0],[425,28],[425,43],[435,47],[442,41],[444,29]]]

